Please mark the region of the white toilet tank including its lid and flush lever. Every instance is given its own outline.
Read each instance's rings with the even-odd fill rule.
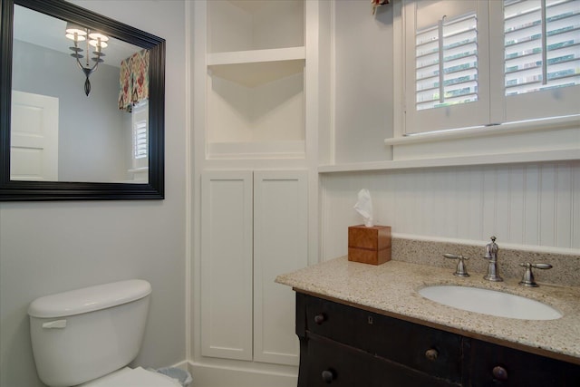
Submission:
[[[28,314],[40,379],[68,387],[131,363],[145,332],[150,293],[149,282],[132,279],[34,300]]]

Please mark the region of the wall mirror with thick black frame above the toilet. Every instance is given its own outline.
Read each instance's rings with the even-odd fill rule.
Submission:
[[[0,200],[163,198],[165,41],[62,0],[0,34]]]

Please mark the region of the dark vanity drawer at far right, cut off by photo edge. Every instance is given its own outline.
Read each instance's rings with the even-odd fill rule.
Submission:
[[[577,387],[580,365],[475,339],[465,341],[471,387]]]

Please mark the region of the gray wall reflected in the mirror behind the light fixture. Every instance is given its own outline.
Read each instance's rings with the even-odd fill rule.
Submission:
[[[59,99],[59,180],[127,179],[131,114],[117,107],[119,67],[99,64],[87,97],[84,73],[68,53],[15,41],[13,63],[14,90]]]

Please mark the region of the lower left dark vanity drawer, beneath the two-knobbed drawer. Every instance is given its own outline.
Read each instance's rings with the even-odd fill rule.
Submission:
[[[350,346],[321,337],[311,337],[306,355],[304,384],[316,386],[364,387],[458,387],[427,373],[390,362]]]

